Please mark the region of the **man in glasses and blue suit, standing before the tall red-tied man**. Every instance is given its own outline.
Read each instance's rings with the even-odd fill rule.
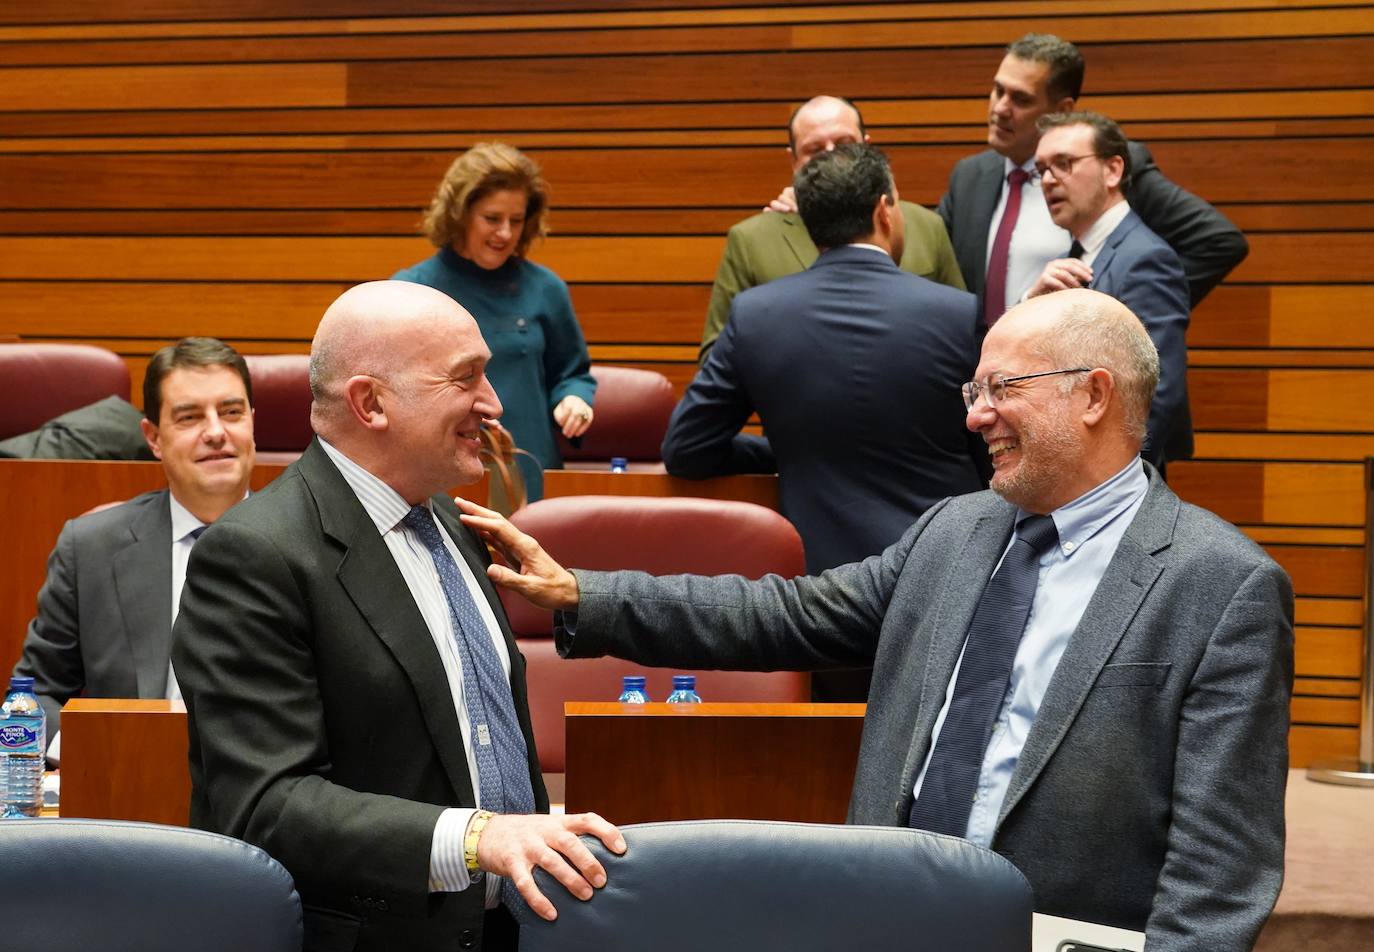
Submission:
[[[1026,297],[1091,287],[1140,319],[1160,352],[1145,457],[1162,470],[1167,460],[1193,455],[1187,279],[1173,249],[1127,202],[1131,152],[1117,124],[1096,113],[1055,113],[1039,125],[1035,174],[1050,217],[1073,245],[1044,267]]]

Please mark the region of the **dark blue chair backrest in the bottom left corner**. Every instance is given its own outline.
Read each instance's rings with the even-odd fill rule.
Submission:
[[[5,820],[7,949],[298,952],[290,874],[239,839],[117,820]]]

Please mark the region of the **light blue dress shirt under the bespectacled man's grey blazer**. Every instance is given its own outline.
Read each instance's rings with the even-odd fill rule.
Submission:
[[[998,813],[1002,812],[1002,804],[1007,798],[1011,775],[1017,769],[1017,761],[1021,758],[1036,712],[1040,710],[1040,702],[1044,701],[1050,679],[1054,677],[1054,669],[1059,666],[1059,658],[1069,646],[1073,631],[1098,589],[1107,563],[1116,555],[1121,536],[1145,501],[1149,484],[1145,466],[1135,459],[1102,485],[1050,514],[1059,533],[1059,544],[1040,556],[1040,577],[1036,581],[1035,600],[1030,603],[1030,617],[1017,647],[1015,661],[1011,662],[1007,696],[992,725],[988,750],[978,771],[978,789],[966,832],[970,842],[980,846],[992,843],[992,835],[998,828]],[[1017,519],[1026,515],[1030,514],[1022,510],[1017,514]],[[1007,549],[1011,548],[1011,541],[1007,540]],[[1006,556],[1006,549],[1002,555]],[[998,565],[1002,565],[1000,559]],[[959,662],[963,662],[962,653]],[[930,754],[934,753],[936,742],[940,739],[940,728],[944,727],[945,714],[949,713],[958,679],[959,665],[955,665],[949,685],[945,688],[944,706],[936,717],[934,731],[930,735],[930,751],[916,776],[918,797],[921,784],[926,779],[926,769],[930,767]]]

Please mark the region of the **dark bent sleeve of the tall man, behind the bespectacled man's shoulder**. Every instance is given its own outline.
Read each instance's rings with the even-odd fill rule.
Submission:
[[[1140,143],[1131,143],[1127,201],[1150,231],[1168,242],[1183,262],[1191,306],[1221,283],[1250,251],[1230,218],[1160,172]]]

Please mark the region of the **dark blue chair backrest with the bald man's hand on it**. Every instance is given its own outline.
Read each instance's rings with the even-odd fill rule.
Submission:
[[[583,837],[606,886],[583,903],[543,870],[558,908],[515,909],[521,952],[1029,952],[1030,885],[955,837],[886,827],[695,820],[621,827],[616,856]]]

